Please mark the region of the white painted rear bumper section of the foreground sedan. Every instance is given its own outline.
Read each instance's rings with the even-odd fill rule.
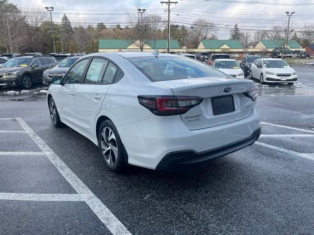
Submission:
[[[156,169],[169,153],[194,151],[203,153],[251,137],[261,127],[256,104],[252,113],[230,123],[199,130],[189,130],[178,116],[155,116],[117,126],[128,153],[128,163]]]

